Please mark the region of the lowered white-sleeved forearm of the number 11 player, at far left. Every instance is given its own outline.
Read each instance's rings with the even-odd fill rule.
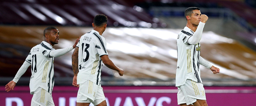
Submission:
[[[19,81],[19,78],[21,78],[21,76],[26,72],[27,68],[30,66],[31,64],[28,63],[27,61],[24,61],[24,63],[22,64],[21,68],[19,68],[17,74],[15,75],[15,77],[13,78],[13,81],[15,83],[17,83]]]

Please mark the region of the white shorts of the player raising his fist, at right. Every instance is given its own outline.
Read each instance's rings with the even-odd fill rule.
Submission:
[[[178,105],[186,103],[193,104],[199,100],[206,100],[205,89],[202,83],[187,79],[185,85],[178,86]]]

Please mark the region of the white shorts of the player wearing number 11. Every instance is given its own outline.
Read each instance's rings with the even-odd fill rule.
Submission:
[[[54,106],[53,96],[46,90],[38,87],[37,90],[34,91],[31,106]]]

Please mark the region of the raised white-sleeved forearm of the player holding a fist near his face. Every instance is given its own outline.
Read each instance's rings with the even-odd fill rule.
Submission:
[[[199,43],[199,41],[202,38],[202,33],[203,33],[203,27],[204,26],[205,26],[205,23],[199,22],[199,25],[197,26],[197,30],[195,31],[193,36],[191,36],[188,39],[188,43],[190,45],[197,45]]]

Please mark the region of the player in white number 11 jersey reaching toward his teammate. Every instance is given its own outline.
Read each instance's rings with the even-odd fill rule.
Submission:
[[[32,75],[29,83],[30,94],[33,95],[31,106],[54,106],[51,95],[54,86],[54,57],[64,55],[73,50],[79,41],[77,39],[73,46],[55,50],[53,45],[59,42],[58,29],[55,27],[45,28],[44,37],[45,41],[42,41],[30,50],[29,55],[14,79],[5,87],[7,92],[11,89],[13,90],[19,78],[31,66]]]

